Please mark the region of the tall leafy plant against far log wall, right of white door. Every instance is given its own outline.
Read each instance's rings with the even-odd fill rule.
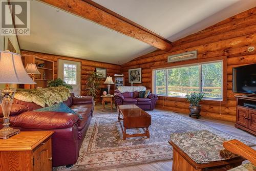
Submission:
[[[96,93],[98,90],[100,90],[100,82],[102,78],[103,74],[100,72],[91,72],[88,75],[86,83],[86,90],[88,91],[88,96],[93,96],[93,98],[96,99]]]

